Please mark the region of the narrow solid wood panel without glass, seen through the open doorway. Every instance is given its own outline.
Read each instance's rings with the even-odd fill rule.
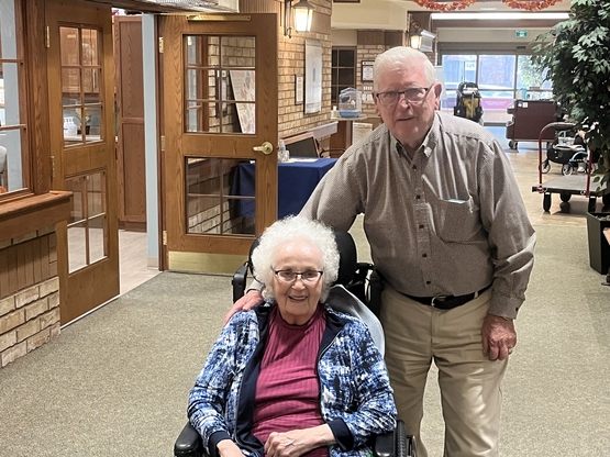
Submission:
[[[114,16],[119,227],[146,231],[142,16]]]

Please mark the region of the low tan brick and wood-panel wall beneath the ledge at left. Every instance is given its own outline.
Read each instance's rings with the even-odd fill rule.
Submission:
[[[54,227],[0,242],[0,368],[59,335]]]

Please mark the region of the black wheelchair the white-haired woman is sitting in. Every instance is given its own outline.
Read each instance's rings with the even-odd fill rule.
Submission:
[[[340,253],[339,277],[335,286],[331,289],[331,294],[345,298],[346,296],[354,296],[358,300],[352,300],[355,309],[358,304],[366,308],[365,313],[373,312],[376,316],[379,315],[380,298],[382,290],[382,276],[375,269],[371,264],[358,263],[356,255],[356,244],[352,235],[347,232],[336,232],[335,239]],[[248,260],[237,268],[231,281],[233,288],[233,301],[237,301],[245,293],[246,285],[248,281],[248,272],[252,275],[252,264],[249,258],[253,250],[258,246],[258,238],[254,241],[251,246]],[[334,291],[333,291],[334,289]],[[348,292],[348,293],[346,293]],[[350,297],[347,299],[350,300]],[[357,302],[361,303],[357,303]],[[351,312],[345,309],[345,312]],[[362,316],[362,310],[351,312],[354,315]],[[368,320],[363,319],[365,322]],[[380,323],[376,320],[380,328]],[[380,346],[382,352],[382,331],[376,332],[370,328],[376,344]],[[380,337],[379,337],[380,335]],[[380,339],[380,341],[379,341]],[[376,457],[415,457],[415,441],[412,435],[407,434],[404,423],[401,420],[397,421],[397,426],[393,432],[382,435],[377,435],[373,438],[373,455]],[[174,444],[175,457],[204,457],[208,453],[203,447],[199,432],[187,423],[182,428],[180,435]]]

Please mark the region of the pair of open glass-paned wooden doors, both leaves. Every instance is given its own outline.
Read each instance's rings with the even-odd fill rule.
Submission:
[[[65,324],[120,291],[112,12],[48,0],[45,16],[52,188],[74,192],[57,231]],[[162,268],[228,272],[277,218],[277,15],[157,23]],[[254,194],[236,190],[243,160],[256,164]]]

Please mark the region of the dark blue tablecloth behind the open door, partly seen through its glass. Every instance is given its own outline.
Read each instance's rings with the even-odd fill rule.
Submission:
[[[336,158],[319,158],[314,161],[287,161],[278,165],[278,219],[298,214],[320,179],[335,164]],[[254,164],[242,161],[237,166],[231,187],[233,196],[254,197]],[[254,218],[254,201],[237,200],[237,214]]]

